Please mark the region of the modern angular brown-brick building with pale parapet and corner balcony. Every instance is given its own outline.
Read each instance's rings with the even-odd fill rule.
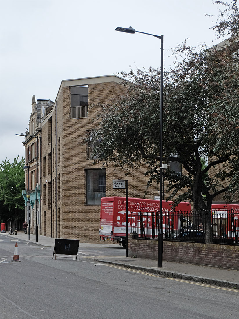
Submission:
[[[112,189],[112,179],[127,178],[130,197],[145,195],[145,167],[126,177],[113,166],[93,165],[90,148],[81,143],[98,113],[92,105],[120,96],[123,81],[115,75],[62,81],[41,123],[42,235],[99,241],[101,197],[125,196],[124,190]],[[157,195],[156,187],[147,189],[148,198]]]

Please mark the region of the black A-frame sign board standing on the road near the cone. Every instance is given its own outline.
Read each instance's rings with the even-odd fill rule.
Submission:
[[[75,255],[77,258],[77,254],[79,251],[79,243],[80,243],[79,239],[56,238],[52,258],[54,257],[54,254],[55,254],[55,259],[56,259],[56,254],[57,255]]]

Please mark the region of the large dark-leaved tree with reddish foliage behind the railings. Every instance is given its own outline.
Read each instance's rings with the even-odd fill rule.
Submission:
[[[239,184],[239,14],[236,1],[220,12],[213,29],[229,39],[198,50],[186,41],[175,50],[173,68],[164,72],[163,160],[182,164],[186,174],[165,172],[175,204],[193,201],[198,211],[211,211],[213,199],[232,200]],[[148,184],[159,183],[160,71],[122,72],[127,93],[102,105],[97,127],[87,137],[95,162],[117,167],[148,165]],[[201,159],[208,159],[205,166]],[[217,173],[215,173],[217,171]],[[185,190],[179,195],[181,190]],[[206,241],[212,240],[210,215],[202,214]]]

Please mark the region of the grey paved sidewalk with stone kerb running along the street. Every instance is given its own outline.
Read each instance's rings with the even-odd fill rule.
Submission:
[[[8,235],[8,233],[5,234]],[[38,235],[38,242],[35,242],[34,234],[31,234],[31,239],[29,240],[28,235],[24,234],[24,232],[17,232],[16,236],[11,235],[11,237],[32,242],[38,246],[52,247],[52,249],[55,244],[55,238],[42,235]],[[112,247],[112,244],[107,244],[104,242],[98,244],[80,242],[79,250],[82,247]],[[220,267],[209,267],[204,265],[177,263],[171,261],[163,261],[163,267],[158,268],[157,260],[126,257],[126,253],[125,256],[92,256],[91,259],[101,263],[108,263],[120,267],[134,269],[136,271],[151,273],[160,277],[177,278],[194,281],[201,284],[239,290],[239,269],[235,270]]]

